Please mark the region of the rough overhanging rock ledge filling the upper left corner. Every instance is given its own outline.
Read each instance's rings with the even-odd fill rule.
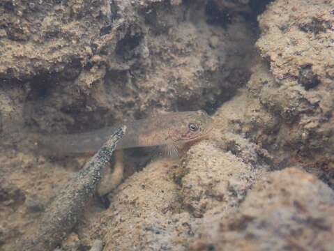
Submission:
[[[61,72],[75,77],[111,15],[104,0],[4,0],[0,13],[0,77],[8,80]]]

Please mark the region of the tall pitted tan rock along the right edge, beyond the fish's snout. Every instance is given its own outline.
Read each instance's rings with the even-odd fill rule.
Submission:
[[[333,1],[275,1],[259,17],[257,47],[268,63],[253,69],[244,130],[280,167],[301,164],[331,185],[333,8]]]

